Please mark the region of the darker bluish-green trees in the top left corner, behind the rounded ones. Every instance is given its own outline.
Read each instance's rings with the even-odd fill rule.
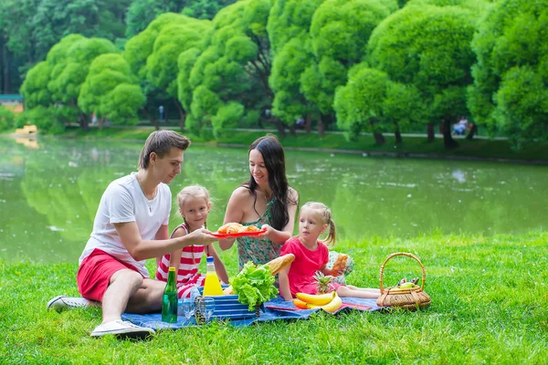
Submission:
[[[44,60],[51,47],[69,34],[124,35],[124,15],[131,0],[3,0],[0,2],[0,68],[6,89],[18,89],[28,69]],[[2,36],[4,34],[4,36]],[[2,46],[5,46],[4,48]],[[18,75],[19,77],[16,77]],[[2,88],[0,88],[2,89]]]

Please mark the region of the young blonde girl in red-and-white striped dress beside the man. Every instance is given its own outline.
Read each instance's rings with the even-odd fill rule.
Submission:
[[[209,192],[203,186],[186,186],[181,193],[177,194],[177,203],[184,222],[174,229],[172,238],[188,235],[196,229],[206,227],[205,221],[211,209],[211,203]],[[182,250],[159,257],[156,278],[167,281],[169,266],[178,267],[177,291],[179,298],[190,297],[193,287],[204,286],[205,275],[198,273],[198,266],[200,266],[204,253],[214,257],[217,276],[222,282],[228,283],[227,269],[213,245],[187,245]]]

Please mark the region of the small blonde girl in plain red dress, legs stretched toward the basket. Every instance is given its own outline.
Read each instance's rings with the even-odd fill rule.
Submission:
[[[340,276],[344,268],[334,272],[327,268],[329,249],[326,244],[335,242],[335,223],[331,210],[323,203],[309,202],[302,205],[299,214],[299,235],[290,238],[279,255],[293,254],[295,259],[279,272],[279,294],[285,300],[291,300],[297,293],[317,294],[318,287],[314,276],[317,271],[325,276]],[[325,231],[327,239],[320,241],[319,237]],[[376,298],[379,289],[353,287],[331,283],[339,297]],[[327,288],[329,289],[329,288]]]

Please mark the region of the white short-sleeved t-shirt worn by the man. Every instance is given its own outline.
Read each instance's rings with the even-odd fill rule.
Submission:
[[[90,240],[79,257],[84,258],[99,248],[118,260],[135,266],[144,277],[150,277],[144,266],[146,260],[136,261],[121,243],[115,223],[136,222],[143,240],[152,240],[162,225],[169,222],[172,194],[169,187],[160,183],[158,193],[148,200],[142,193],[136,172],[113,181],[100,198],[93,222]]]

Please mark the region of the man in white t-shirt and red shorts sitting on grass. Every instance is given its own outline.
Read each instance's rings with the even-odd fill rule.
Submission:
[[[83,298],[55,297],[47,308],[60,311],[100,302],[102,323],[91,332],[92,337],[138,338],[154,333],[121,320],[124,310],[150,313],[162,309],[165,283],[150,278],[146,259],[216,241],[205,229],[169,238],[172,195],[167,184],[181,172],[189,144],[173,130],[151,133],[142,148],[139,171],[112,182],[100,199],[90,240],[79,257],[77,281]]]

